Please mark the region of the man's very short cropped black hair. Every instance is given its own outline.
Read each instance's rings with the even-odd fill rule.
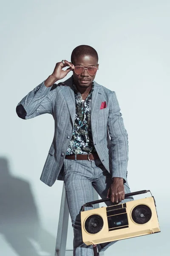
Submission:
[[[71,53],[71,63],[74,63],[74,58],[77,56],[80,56],[80,55],[91,55],[94,58],[96,58],[97,62],[99,59],[98,54],[93,47],[91,47],[89,45],[82,44],[82,45],[77,46]]]

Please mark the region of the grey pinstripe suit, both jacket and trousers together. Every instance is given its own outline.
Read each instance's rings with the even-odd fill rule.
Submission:
[[[106,102],[107,106],[100,109],[102,102]],[[106,198],[113,182],[112,177],[122,177],[125,193],[130,192],[127,183],[128,137],[116,93],[94,81],[91,99],[91,130],[99,159],[91,162],[65,158],[76,117],[72,77],[48,88],[43,81],[19,102],[16,111],[17,115],[23,119],[30,119],[44,113],[53,115],[54,139],[40,179],[48,186],[52,186],[56,179],[64,180],[74,228],[74,256],[92,256],[92,245],[87,246],[82,242],[79,213],[83,204],[94,201],[92,186],[101,198]],[[131,200],[133,198],[129,197],[121,203]],[[108,201],[106,204],[109,206],[113,203]],[[104,251],[113,243],[98,244],[98,250]]]

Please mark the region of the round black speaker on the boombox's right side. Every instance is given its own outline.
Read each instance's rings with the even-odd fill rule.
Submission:
[[[145,204],[137,205],[132,211],[132,219],[137,224],[147,223],[152,216],[151,209]]]

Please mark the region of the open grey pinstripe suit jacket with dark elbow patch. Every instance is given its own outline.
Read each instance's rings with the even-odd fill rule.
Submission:
[[[106,102],[107,107],[100,109],[102,102]],[[46,87],[43,81],[18,103],[16,111],[22,119],[45,113],[53,115],[54,139],[40,180],[48,186],[52,186],[55,180],[63,180],[63,163],[76,115],[72,76],[52,87]],[[122,177],[128,186],[128,135],[116,93],[96,81],[91,99],[91,129],[94,146],[103,165],[112,177]]]

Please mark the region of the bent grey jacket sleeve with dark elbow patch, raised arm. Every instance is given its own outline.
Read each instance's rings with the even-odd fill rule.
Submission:
[[[45,113],[52,114],[51,87],[46,87],[44,81],[29,92],[17,105],[17,115],[22,119],[30,119]]]

